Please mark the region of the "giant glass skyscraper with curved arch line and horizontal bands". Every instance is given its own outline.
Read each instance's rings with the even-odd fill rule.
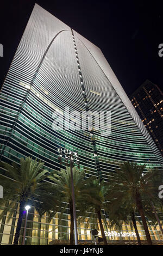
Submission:
[[[62,115],[65,107],[80,113],[111,111],[111,134],[66,127],[54,131],[53,113]],[[162,167],[158,149],[101,50],[37,4],[2,87],[1,112],[1,161],[32,156],[45,162],[49,172],[60,170],[61,147],[78,152],[86,175],[105,180],[123,161],[146,164],[147,169]],[[54,218],[50,236],[46,221],[36,224],[36,213],[30,216],[34,224],[28,228],[29,243],[68,237],[68,215],[62,227]],[[9,229],[5,236],[4,227]],[[80,229],[79,239],[89,239]],[[0,233],[2,243],[12,242],[9,224],[1,225]]]

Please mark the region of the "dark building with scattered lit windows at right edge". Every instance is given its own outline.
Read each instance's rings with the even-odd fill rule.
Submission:
[[[163,93],[156,84],[146,80],[130,100],[163,155]]]

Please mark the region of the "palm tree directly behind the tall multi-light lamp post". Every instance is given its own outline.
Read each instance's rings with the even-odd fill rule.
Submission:
[[[62,202],[65,202],[65,207],[62,209],[62,213],[65,211],[65,208],[70,209],[70,245],[73,245],[74,241],[74,222],[73,222],[73,205],[72,205],[72,190],[71,190],[71,170],[70,167],[61,169],[60,172],[55,172],[50,178],[56,185],[55,189],[60,192]],[[85,179],[84,170],[80,171],[79,169],[73,168],[73,184],[74,184],[74,196],[76,204],[78,205],[81,200],[86,199],[89,191],[87,190],[87,185],[91,182],[94,177]],[[61,216],[60,215],[60,216]],[[77,216],[79,211],[77,211]]]

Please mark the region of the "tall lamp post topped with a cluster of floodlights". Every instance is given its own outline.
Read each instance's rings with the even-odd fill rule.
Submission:
[[[72,207],[73,207],[73,222],[74,222],[74,236],[75,236],[75,245],[78,245],[78,230],[77,230],[77,215],[76,215],[76,202],[74,196],[74,185],[73,185],[73,166],[74,162],[79,166],[79,156],[77,152],[68,151],[67,149],[63,150],[65,153],[65,162],[68,163],[70,161],[70,170],[71,170],[71,190],[72,190]],[[59,160],[62,157],[62,148],[58,149],[59,152]]]

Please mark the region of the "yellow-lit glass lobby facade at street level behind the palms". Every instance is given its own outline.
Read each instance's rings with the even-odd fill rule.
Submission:
[[[2,211],[2,208],[0,212]],[[27,230],[26,230],[26,245],[49,245],[51,243],[58,244],[59,242],[66,241],[69,242],[70,239],[70,215],[63,214],[60,220],[60,213],[57,212],[55,217],[51,220],[50,223],[47,221],[47,216],[43,215],[41,218],[37,214],[34,208],[30,209],[28,213],[28,221],[27,221]],[[7,214],[8,216],[8,214]],[[7,222],[7,216],[3,218],[1,221],[0,228],[0,239],[1,245],[11,245],[14,241],[14,234],[16,230],[18,212],[15,216],[12,216],[11,220]],[[25,215],[24,215],[25,218]],[[22,222],[22,228],[20,231],[20,240],[19,244],[22,244],[23,239],[23,227],[24,227],[24,218]],[[103,220],[102,220],[103,222]],[[108,241],[117,241],[117,240],[126,240],[126,241],[136,241],[136,235],[134,228],[131,228],[131,225],[127,225],[125,223],[122,224],[122,229],[118,230],[115,227],[109,228],[109,220],[107,220],[108,226],[105,228],[105,235]],[[161,223],[163,224],[163,223]],[[93,223],[92,223],[93,225]],[[143,229],[142,222],[136,221],[137,229],[139,231],[140,239],[146,240],[145,231]],[[99,226],[99,223],[98,223]],[[162,233],[160,231],[159,225],[153,227],[152,225],[148,225],[149,233],[151,235],[152,240],[163,240]],[[79,243],[83,241],[90,242],[93,240],[91,235],[91,223],[87,227],[86,221],[80,225],[78,225],[78,239]],[[99,236],[101,235],[101,231],[98,230]]]

